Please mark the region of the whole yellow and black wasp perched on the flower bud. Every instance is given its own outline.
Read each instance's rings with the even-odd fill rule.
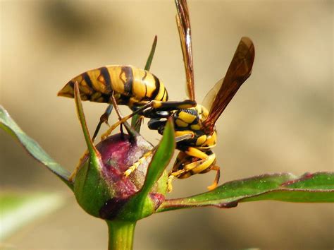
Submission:
[[[171,190],[171,181],[174,178],[184,179],[193,174],[216,170],[214,183],[208,187],[214,189],[220,176],[220,168],[216,166],[216,155],[211,150],[216,146],[215,124],[252,72],[254,45],[248,37],[242,37],[225,78],[218,81],[206,95],[204,103],[209,105],[204,107],[197,104],[194,95],[192,40],[187,1],[175,0],[175,4],[178,11],[176,22],[190,100],[168,101],[167,91],[158,78],[148,71],[132,66],[106,66],[87,71],[73,78],[58,95],[73,97],[73,84],[78,81],[83,100],[108,103],[113,100],[115,106],[128,105],[134,111],[126,117],[120,117],[118,114],[120,120],[113,124],[102,138],[108,136],[119,124],[123,124],[135,114],[150,118],[149,129],[157,130],[159,133],[163,133],[166,118],[172,117],[175,124],[175,137],[178,138],[176,148],[180,153],[169,173],[168,189]],[[146,153],[142,158],[144,159],[150,153]],[[131,166],[125,175],[134,171],[140,160],[138,164]]]

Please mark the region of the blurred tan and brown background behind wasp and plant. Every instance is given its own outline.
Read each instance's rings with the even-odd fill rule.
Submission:
[[[271,172],[333,171],[333,1],[189,1],[199,102],[225,75],[242,36],[252,76],[219,119],[221,182]],[[0,104],[56,161],[73,170],[85,142],[71,99],[74,76],[109,64],[151,71],[185,99],[173,1],[0,1]],[[94,131],[106,105],[85,102]],[[123,114],[129,109],[124,107]],[[112,116],[109,121],[115,121]],[[145,126],[144,126],[145,127]],[[103,127],[106,129],[106,126]],[[156,132],[142,129],[157,143]],[[1,189],[61,192],[67,205],[6,240],[18,249],[106,249],[107,228],[65,185],[0,131]],[[214,172],[174,181],[169,197],[206,191]],[[265,201],[180,210],[137,224],[135,249],[333,249],[333,205]]]

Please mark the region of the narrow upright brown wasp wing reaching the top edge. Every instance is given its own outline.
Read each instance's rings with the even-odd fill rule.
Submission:
[[[192,34],[190,28],[189,11],[186,0],[175,0],[178,15],[176,24],[180,36],[183,61],[185,64],[185,77],[187,79],[187,94],[190,100],[195,100],[194,95],[194,69],[192,64]]]

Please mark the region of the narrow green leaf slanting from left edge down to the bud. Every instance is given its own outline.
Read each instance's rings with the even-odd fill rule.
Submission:
[[[18,124],[10,117],[6,109],[0,105],[0,128],[4,129],[11,136],[16,138],[32,157],[41,162],[51,172],[56,174],[62,181],[64,181],[70,189],[73,189],[73,183],[69,181],[70,172],[61,167],[55,162],[42,147],[27,136],[25,132],[20,129]]]

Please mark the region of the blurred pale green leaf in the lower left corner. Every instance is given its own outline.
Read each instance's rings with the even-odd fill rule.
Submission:
[[[65,199],[59,194],[27,194],[24,192],[1,191],[0,241],[11,236],[30,222],[61,208],[64,203]]]

